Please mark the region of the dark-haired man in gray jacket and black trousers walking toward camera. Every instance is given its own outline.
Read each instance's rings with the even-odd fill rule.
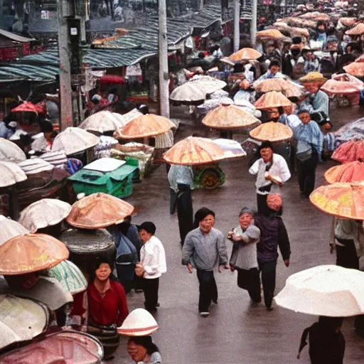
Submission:
[[[218,287],[216,286],[213,270],[218,267],[220,273],[227,268],[228,252],[225,237],[222,232],[213,228],[215,213],[208,208],[200,208],[195,214],[196,229],[188,232],[182,251],[182,264],[187,265],[188,271],[197,269],[200,283],[200,298],[198,311],[206,317],[211,301],[218,303]]]

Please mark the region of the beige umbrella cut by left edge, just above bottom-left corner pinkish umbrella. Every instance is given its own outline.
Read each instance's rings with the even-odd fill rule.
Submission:
[[[38,336],[47,325],[48,319],[48,309],[42,304],[31,299],[1,294],[0,349]]]

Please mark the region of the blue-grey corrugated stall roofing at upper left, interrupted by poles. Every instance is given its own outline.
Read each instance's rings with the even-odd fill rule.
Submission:
[[[206,28],[221,21],[220,5],[205,6],[202,11],[180,18],[168,18],[168,43],[174,45],[189,36],[193,28]],[[112,68],[139,63],[158,53],[158,17],[152,16],[149,24],[135,28],[120,38],[107,41],[95,49],[84,51],[83,62],[92,68]],[[48,48],[36,55],[27,55],[19,63],[0,67],[1,80],[49,80],[59,72],[58,48]],[[43,63],[44,65],[39,65]],[[38,65],[36,65],[38,64]]]

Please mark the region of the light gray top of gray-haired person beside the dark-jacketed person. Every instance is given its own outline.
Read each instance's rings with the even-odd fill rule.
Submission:
[[[242,241],[232,241],[230,265],[237,269],[257,268],[257,243],[260,240],[259,228],[254,225],[253,221],[245,231],[240,226],[234,230],[235,235],[242,237]]]

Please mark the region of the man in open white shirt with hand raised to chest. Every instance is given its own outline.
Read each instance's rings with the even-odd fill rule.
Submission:
[[[250,167],[249,173],[257,175],[255,187],[257,188],[258,213],[266,214],[268,193],[279,193],[280,188],[291,178],[286,160],[279,154],[273,153],[270,141],[263,141],[259,147],[259,158]]]

